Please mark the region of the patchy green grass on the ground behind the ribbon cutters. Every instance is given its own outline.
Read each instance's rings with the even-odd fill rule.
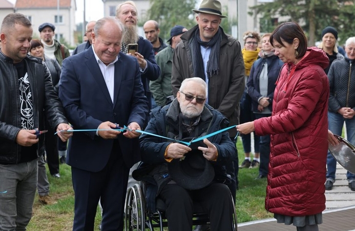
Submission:
[[[244,160],[242,142],[237,143],[239,164]],[[255,178],[258,169],[239,169],[239,190],[236,196],[236,211],[238,223],[271,218],[264,208],[266,179]],[[42,205],[36,195],[33,205],[33,217],[27,227],[28,231],[72,230],[74,218],[74,191],[71,180],[71,168],[66,164],[60,165],[60,178],[53,178],[47,169],[50,182],[50,196],[56,204]],[[99,230],[101,220],[99,208],[95,218],[95,231]]]

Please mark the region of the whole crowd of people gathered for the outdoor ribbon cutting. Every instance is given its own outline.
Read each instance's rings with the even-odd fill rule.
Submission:
[[[336,181],[328,144],[337,145],[333,133],[341,136],[344,123],[355,144],[355,37],[343,55],[335,28],[308,47],[301,27],[287,22],[246,31],[240,44],[220,26],[221,9],[203,0],[192,9],[196,26],[173,26],[164,43],[154,20],[138,35],[136,5],[126,1],[115,17],[89,22],[72,55],[50,22],[37,40],[26,16],[8,14],[0,29],[0,229],[26,229],[36,190],[41,203],[56,203],[47,162],[54,178],[60,164],[71,166],[75,231],[94,229],[98,204],[100,229],[123,230],[126,191],[137,181],[149,183],[151,211],[156,198],[165,203],[169,230],[191,229],[193,201],[211,221],[194,230],[232,230],[239,168],[267,179],[265,209],[278,223],[319,230],[325,190]],[[196,145],[180,142],[228,126]],[[355,191],[355,175],[347,180]]]

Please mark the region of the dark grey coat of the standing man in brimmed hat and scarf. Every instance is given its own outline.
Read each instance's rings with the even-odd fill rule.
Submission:
[[[190,50],[189,41],[195,34],[198,25],[186,31],[173,55],[172,88],[174,97],[178,92],[181,82],[194,76],[192,55],[195,51]],[[240,43],[231,35],[222,30],[221,48],[219,52],[219,74],[212,74],[208,80],[208,105],[220,111],[231,123],[239,124],[239,101],[242,98],[244,82],[244,61]],[[234,137],[236,129],[229,130],[229,136]]]

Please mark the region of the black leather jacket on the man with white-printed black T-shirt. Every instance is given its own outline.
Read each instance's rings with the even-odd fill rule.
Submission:
[[[47,66],[30,55],[25,58],[25,65],[32,93],[34,127],[44,130],[45,116],[54,130],[58,124],[68,123]],[[0,164],[17,164],[21,159],[21,146],[15,142],[21,129],[19,95],[16,67],[0,50]],[[43,152],[44,136],[39,136],[37,154]]]

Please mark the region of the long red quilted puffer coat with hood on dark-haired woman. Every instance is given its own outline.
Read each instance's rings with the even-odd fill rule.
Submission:
[[[328,64],[318,48],[308,48],[296,67],[285,64],[272,116],[254,121],[258,136],[272,135],[265,198],[271,213],[307,216],[325,209],[329,83],[323,69]]]

